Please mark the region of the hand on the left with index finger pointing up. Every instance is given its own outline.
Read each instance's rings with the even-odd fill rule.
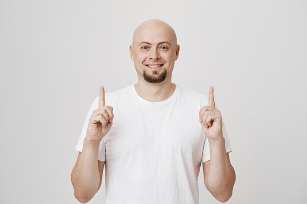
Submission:
[[[93,111],[88,122],[86,137],[89,141],[100,142],[112,127],[113,107],[104,103],[104,88],[101,86],[98,109]]]

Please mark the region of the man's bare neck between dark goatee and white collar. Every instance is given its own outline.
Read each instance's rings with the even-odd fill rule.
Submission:
[[[174,93],[176,85],[171,81],[153,84],[139,81],[134,85],[139,96],[150,102],[159,102],[168,99]]]

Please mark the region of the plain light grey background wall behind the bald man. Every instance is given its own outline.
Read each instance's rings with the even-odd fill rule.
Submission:
[[[153,18],[177,32],[172,81],[214,86],[237,176],[228,203],[306,204],[306,0],[0,0],[0,203],[78,203],[85,115],[101,85],[137,82],[128,46]],[[219,203],[203,170],[199,189]],[[103,176],[89,203],[104,191]]]

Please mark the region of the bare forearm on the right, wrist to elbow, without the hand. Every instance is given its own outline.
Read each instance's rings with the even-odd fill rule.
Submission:
[[[225,150],[225,139],[223,137],[221,140],[211,140],[209,144],[210,167],[207,186],[214,197],[227,201],[232,195],[235,172]]]

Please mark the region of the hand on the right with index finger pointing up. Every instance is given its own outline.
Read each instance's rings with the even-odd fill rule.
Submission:
[[[199,119],[203,131],[209,140],[219,140],[223,138],[222,114],[215,109],[213,86],[209,89],[209,106],[204,106],[199,111]]]

